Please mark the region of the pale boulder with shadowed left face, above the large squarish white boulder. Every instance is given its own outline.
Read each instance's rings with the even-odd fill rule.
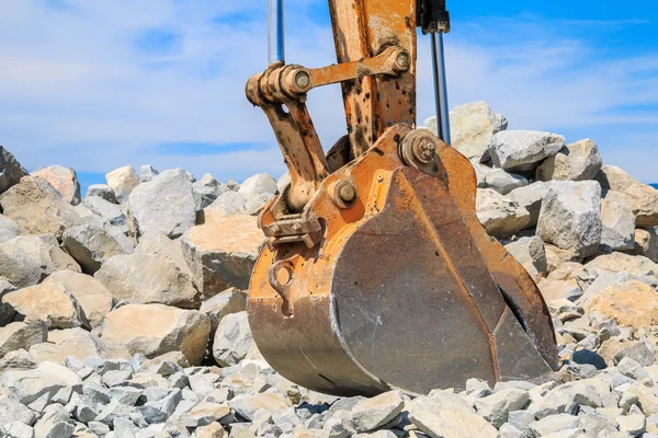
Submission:
[[[537,168],[538,181],[587,181],[593,180],[601,170],[603,160],[597,143],[591,139],[564,147],[557,154],[548,157]]]

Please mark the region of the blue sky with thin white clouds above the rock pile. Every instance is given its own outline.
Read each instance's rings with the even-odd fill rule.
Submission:
[[[226,181],[285,171],[243,96],[266,64],[265,0],[0,0],[0,145],[30,170],[83,183],[121,165]],[[449,0],[451,106],[485,100],[511,129],[593,138],[608,164],[658,182],[658,5],[648,1]],[[287,59],[334,62],[325,0],[286,1]],[[432,114],[419,41],[419,118]],[[343,135],[337,87],[309,110]]]

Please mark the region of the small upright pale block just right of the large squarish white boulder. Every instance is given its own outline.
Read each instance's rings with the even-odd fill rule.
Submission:
[[[605,251],[631,251],[635,247],[635,215],[629,208],[603,199],[601,221],[601,245]]]

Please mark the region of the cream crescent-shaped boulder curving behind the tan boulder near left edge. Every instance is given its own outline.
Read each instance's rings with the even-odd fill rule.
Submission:
[[[92,327],[101,325],[114,306],[114,298],[107,288],[89,275],[59,270],[50,274],[44,283],[59,284],[76,297]]]

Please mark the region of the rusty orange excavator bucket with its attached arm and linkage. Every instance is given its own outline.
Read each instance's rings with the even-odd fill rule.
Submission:
[[[330,0],[334,31],[353,32],[336,32],[339,66],[274,64],[247,85],[292,178],[259,218],[268,244],[248,311],[260,351],[285,378],[336,395],[551,372],[551,315],[477,220],[472,164],[413,127],[416,1],[354,4]],[[304,102],[334,82],[350,128],[326,155]]]

